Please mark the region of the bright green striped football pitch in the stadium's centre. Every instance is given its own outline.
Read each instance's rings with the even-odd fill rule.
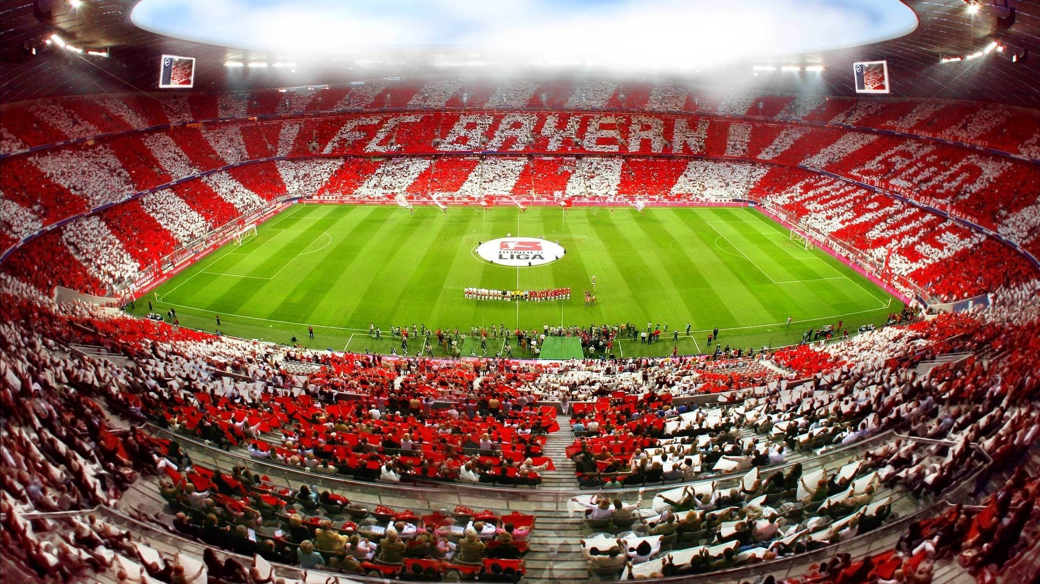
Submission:
[[[566,255],[535,268],[509,268],[474,254],[482,240],[506,234],[544,236]],[[596,277],[596,303],[582,290]],[[468,300],[467,286],[570,287],[561,302]],[[882,324],[898,301],[820,250],[806,250],[782,226],[740,207],[416,207],[295,205],[259,226],[242,245],[229,244],[184,270],[133,310],[165,314],[182,326],[305,347],[389,353],[391,326],[460,329],[504,325],[647,323],[667,326],[654,345],[624,340],[618,356],[706,353],[706,335],[723,345],[778,347],[810,327],[843,321],[852,334]],[[794,319],[786,325],[787,318]],[[691,334],[686,335],[686,324]],[[383,331],[368,335],[369,324]],[[308,337],[307,327],[315,337]],[[679,329],[679,338],[674,338]],[[410,345],[415,354],[419,345]],[[567,355],[571,344],[555,351]],[[488,344],[488,354],[501,350]],[[514,356],[522,356],[514,347]],[[482,354],[467,339],[463,355]],[[437,355],[444,355],[436,351]]]

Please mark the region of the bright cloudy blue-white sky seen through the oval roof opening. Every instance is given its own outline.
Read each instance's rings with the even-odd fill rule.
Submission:
[[[472,51],[471,59],[709,68],[895,39],[899,0],[141,0],[178,39],[307,55]]]

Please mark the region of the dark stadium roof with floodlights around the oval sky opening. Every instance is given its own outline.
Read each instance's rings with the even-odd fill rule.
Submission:
[[[198,58],[191,91],[229,91],[316,83],[341,83],[383,76],[489,76],[500,72],[492,60],[483,67],[467,65],[463,52],[440,53],[435,64],[428,53],[394,50],[375,59],[357,55],[324,58],[318,67],[250,68],[231,71],[227,60],[271,61],[280,55],[182,41],[156,34],[131,22],[138,0],[8,0],[0,8],[0,102],[83,93],[151,92],[156,90],[159,56],[177,54]],[[813,52],[774,59],[776,71],[752,74],[748,59],[704,73],[691,72],[672,79],[697,85],[749,87],[781,93],[855,95],[852,64],[887,59],[896,97],[967,99],[1040,108],[1040,3],[1014,0],[906,0],[917,16],[916,29],[904,36],[866,46]],[[78,7],[74,4],[80,4]],[[734,19],[735,20],[735,19]],[[728,26],[737,27],[739,22]],[[84,52],[47,44],[52,34]],[[996,45],[993,45],[996,43]],[[999,50],[992,47],[999,46]],[[990,48],[991,52],[984,52]],[[85,51],[106,52],[108,56]],[[983,52],[978,58],[966,58]],[[1013,59],[1013,55],[1019,55]],[[459,58],[452,58],[452,57]],[[962,60],[940,62],[943,57]],[[445,65],[446,64],[446,65]],[[458,65],[456,65],[458,64]],[[808,74],[783,71],[784,64],[823,66]],[[513,74],[517,74],[513,71]],[[602,75],[584,69],[523,70],[540,78]],[[631,73],[627,76],[630,78]],[[187,91],[187,90],[171,90]]]

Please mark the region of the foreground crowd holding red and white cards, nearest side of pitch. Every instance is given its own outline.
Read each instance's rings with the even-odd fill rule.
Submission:
[[[655,483],[658,478],[662,482],[683,482],[706,471],[755,477],[748,481],[742,479],[736,492],[732,489],[666,491],[654,498],[646,512],[638,511],[642,508],[639,502],[618,505],[610,499],[603,507],[598,500],[596,503],[581,501],[597,509],[606,509],[610,522],[620,519],[624,524],[631,519],[630,527],[641,525],[647,537],[660,537],[657,543],[670,544],[666,538],[673,534],[675,541],[682,532],[696,534],[685,536],[690,547],[671,543],[671,552],[664,557],[659,553],[655,557],[653,543],[648,543],[649,550],[641,550],[643,542],[640,541],[633,547],[633,554],[625,554],[626,562],[632,563],[628,569],[634,575],[718,569],[842,541],[882,525],[885,503],[877,499],[882,489],[902,489],[916,499],[941,496],[980,468],[970,446],[976,445],[993,460],[981,467],[983,472],[976,485],[969,485],[982,491],[998,473],[1016,466],[1040,431],[1040,412],[1033,406],[1037,385],[1030,367],[1040,351],[1035,319],[1038,310],[1032,294],[1035,287],[999,290],[994,297],[1003,304],[981,314],[940,315],[905,327],[885,328],[847,342],[800,349],[798,358],[811,363],[804,365],[804,373],[810,375],[809,381],[779,384],[775,377],[755,380],[753,374],[748,374],[752,376],[747,380],[751,388],[742,391],[739,401],[732,405],[683,410],[684,406],[676,406],[675,398],[665,389],[673,385],[673,379],[710,373],[697,370],[697,360],[571,361],[553,365],[551,370],[530,371],[525,370],[527,365],[506,360],[477,361],[460,369],[457,364],[442,366],[432,360],[398,359],[391,364],[376,357],[350,356],[324,363],[324,369],[320,370],[324,373],[313,379],[298,378],[285,373],[282,364],[289,360],[306,362],[309,357],[303,353],[290,355],[274,347],[180,331],[165,324],[125,318],[112,320],[85,305],[68,305],[57,310],[52,301],[33,288],[9,278],[3,282],[4,300],[11,315],[3,325],[2,366],[8,380],[3,398],[5,411],[11,412],[9,418],[16,422],[3,434],[5,467],[15,469],[3,476],[5,507],[16,510],[8,516],[108,505],[133,480],[134,473],[158,471],[170,479],[170,482],[163,479],[164,494],[171,496],[168,499],[179,502],[183,508],[199,511],[202,506],[209,509],[209,504],[204,502],[210,499],[215,511],[219,504],[219,513],[212,513],[217,516],[215,526],[207,523],[210,519],[202,519],[201,525],[193,522],[180,522],[179,525],[187,531],[192,527],[204,531],[210,529],[210,535],[219,537],[209,542],[232,551],[245,545],[237,533],[241,530],[236,522],[272,527],[263,525],[262,513],[254,515],[249,511],[261,509],[232,504],[236,492],[244,494],[236,490],[236,484],[245,489],[259,485],[258,488],[267,490],[272,485],[262,479],[258,483],[256,478],[242,473],[238,477],[220,475],[218,478],[217,473],[192,464],[175,442],[156,442],[139,432],[114,431],[106,425],[104,413],[92,399],[104,396],[110,407],[127,415],[137,420],[149,415],[165,418],[167,424],[173,422],[172,427],[181,425],[181,430],[196,418],[199,437],[214,443],[226,439],[225,446],[229,447],[241,442],[252,447],[251,452],[256,451],[258,456],[267,453],[265,458],[278,456],[281,450],[285,459],[279,462],[317,473],[330,467],[320,455],[330,450],[335,454],[337,447],[342,447],[347,457],[357,456],[358,460],[363,459],[363,455],[376,455],[379,461],[371,469],[378,472],[378,476],[370,478],[388,481],[399,480],[405,474],[402,471],[409,463],[404,460],[408,458],[405,453],[422,452],[424,458],[444,454],[447,460],[453,448],[471,448],[477,451],[475,458],[463,453],[464,457],[456,459],[459,479],[473,480],[463,478],[468,473],[479,481],[476,466],[486,463],[486,458],[510,459],[508,464],[511,466],[503,462],[501,476],[509,474],[505,471],[509,467],[517,471],[516,477],[524,476],[524,472],[529,476],[531,472],[537,474],[538,467],[544,464],[537,457],[539,440],[530,437],[537,437],[539,425],[543,425],[542,430],[550,430],[545,424],[554,422],[554,415],[528,403],[528,398],[583,395],[590,398],[588,405],[587,402],[572,402],[570,398],[564,400],[574,414],[573,429],[584,441],[576,445],[576,454],[591,456],[596,464],[592,473],[600,474],[601,478],[598,463],[605,462],[603,471],[606,471],[610,464],[618,464],[621,454],[618,475],[626,475],[624,482],[617,480],[618,476],[607,477],[608,481],[596,485],[597,488],[628,484],[628,477],[635,477],[632,483]],[[24,328],[23,323],[28,322],[33,323],[31,331]],[[112,335],[112,330],[120,330],[121,334]],[[139,369],[123,370],[87,357],[63,356],[60,344],[72,339],[118,351],[134,360]],[[983,350],[988,351],[988,357],[947,363],[934,369],[925,378],[913,373],[916,363],[936,355]],[[821,358],[807,355],[809,351],[821,353]],[[813,370],[818,371],[813,373]],[[326,403],[322,398],[332,391],[361,388],[360,383],[357,387],[336,383],[322,385],[328,384],[333,371],[338,372],[336,377],[339,379],[356,374],[368,380],[367,392],[354,402]],[[236,375],[238,380],[231,381],[228,374]],[[400,380],[404,387],[395,387],[391,380]],[[493,392],[478,388],[478,380],[482,388],[487,381],[487,390]],[[544,389],[539,389],[540,383],[544,383]],[[472,393],[459,395],[458,389],[471,384]],[[497,397],[502,387],[514,388],[515,401]],[[423,399],[434,395],[454,396],[460,401],[453,406],[434,409],[432,403]],[[205,418],[190,415],[192,408],[209,415]],[[84,415],[84,412],[89,413]],[[374,430],[379,428],[392,430],[376,434]],[[866,440],[888,429],[907,433],[912,438],[872,441],[861,460],[847,463],[853,466],[832,468],[821,473],[820,477],[814,471],[807,471],[802,477],[792,479],[789,473],[778,475],[770,469],[773,465],[785,464],[785,458],[791,453],[838,448]],[[486,435],[477,435],[480,430],[487,430]],[[346,437],[352,434],[358,437],[356,445]],[[363,434],[379,436],[379,445],[363,442],[366,438]],[[222,435],[225,438],[220,438]],[[267,439],[275,436],[278,443],[270,445]],[[454,437],[460,439],[450,439]],[[921,441],[936,439],[944,441]],[[596,458],[593,440],[604,442],[606,457]],[[269,448],[264,449],[265,443]],[[431,447],[428,450],[424,448],[426,445]],[[622,452],[613,452],[610,449],[615,446],[621,446]],[[369,460],[374,462],[374,459]],[[426,460],[415,463],[413,471],[431,466]],[[794,472],[795,466],[785,468]],[[356,473],[357,468],[353,471]],[[515,485],[519,481],[505,481],[505,484]],[[868,492],[872,490],[868,486],[873,487],[873,492]],[[792,488],[796,492],[790,493]],[[206,492],[206,497],[200,496],[201,492]],[[254,500],[258,498],[254,497],[250,501],[259,506],[271,505],[270,511],[276,517],[278,510],[284,511],[285,517],[277,517],[279,525],[286,522],[285,527],[290,529],[295,522],[291,518],[293,513],[287,510],[289,502],[297,514],[310,514],[306,511],[308,505],[333,505],[349,514],[349,502],[334,499],[332,493],[326,494],[323,501],[321,493],[308,493],[305,489],[265,494],[275,500],[260,499],[261,503],[256,503]],[[924,575],[928,569],[925,562],[931,561],[930,558],[953,553],[960,554],[964,565],[978,574],[995,573],[1030,545],[1032,532],[1019,526],[1030,525],[1035,494],[1035,477],[1024,471],[1012,472],[1008,485],[990,498],[986,510],[972,515],[968,532],[973,530],[980,535],[960,539],[941,527],[916,532],[911,529],[893,555],[882,562],[838,558],[836,563],[828,562],[823,573],[833,576],[848,572],[847,576],[837,578],[852,582],[859,581],[853,577],[869,574],[881,563],[886,566],[898,563],[906,578],[913,558],[920,558],[917,563],[926,565],[925,568],[919,568],[917,563],[913,566],[915,574]],[[763,496],[765,499],[757,501]],[[869,512],[861,511],[864,507]],[[400,549],[397,539],[409,539],[411,531],[408,525],[397,527],[393,512],[383,520],[379,517],[380,511],[372,511],[376,520],[371,525],[387,526],[380,534],[382,541],[374,550],[361,545],[367,548],[366,555],[374,551],[370,558],[366,557],[373,565],[384,565],[378,561],[382,557],[380,545],[384,550]],[[232,520],[222,522],[220,517]],[[343,518],[346,524],[345,516]],[[390,531],[391,518],[395,519],[396,537],[392,537]],[[471,518],[474,519],[471,527],[475,529],[477,522]],[[17,518],[9,520],[18,522]],[[320,520],[316,530],[326,530]],[[947,524],[961,533],[967,520],[953,516]],[[355,524],[360,529],[356,519]],[[487,526],[485,523],[479,531],[473,532],[475,541],[463,528],[458,541],[448,537],[442,544],[440,539],[430,535],[428,522],[405,519],[405,524],[415,528],[414,533],[418,535],[412,541],[421,540],[414,547],[423,550],[422,557],[402,556],[397,565],[393,561],[395,552],[391,551],[389,560],[383,558],[389,561],[390,567],[374,569],[399,570],[406,559],[459,561],[458,558],[448,559],[447,553],[461,553],[460,547],[464,543],[467,549],[478,548],[476,543],[482,542],[480,534]],[[234,535],[230,531],[232,525],[235,526]],[[433,526],[435,535],[443,527],[436,522]],[[506,528],[501,525],[488,530],[496,540],[499,539],[499,527]],[[698,529],[693,529],[695,527]],[[420,529],[426,531],[425,539]],[[18,539],[8,535],[8,540],[25,552],[22,567],[60,569],[54,567],[57,562],[50,561],[48,554],[60,556],[46,541],[26,539],[28,530],[24,524],[10,531],[18,534]],[[79,531],[84,540],[89,539],[82,528]],[[310,547],[304,545],[303,539],[295,541],[297,547],[292,551],[296,561],[316,566],[319,560],[326,565],[335,558],[349,560],[339,557],[338,550],[323,550],[334,555],[327,558],[322,547],[335,547],[338,540],[344,542],[345,549],[357,532],[337,531],[332,534],[336,538],[332,539],[327,532],[322,534],[326,535],[319,538],[317,531],[313,533],[312,544],[317,549],[317,556],[313,549],[308,551]],[[343,535],[347,537],[342,538]],[[308,536],[309,539],[310,533]],[[319,539],[323,543],[319,543]],[[502,536],[501,539],[508,538]],[[457,545],[454,551],[447,545],[451,542]],[[66,544],[69,549],[60,553],[79,557],[81,561],[80,564],[70,562],[70,570],[78,569],[73,567],[77,565],[92,566],[92,559],[101,562],[99,558],[107,555],[98,545],[74,549]],[[607,547],[604,553],[590,550],[590,562],[597,565],[617,562],[618,555],[612,555],[615,544]],[[262,545],[270,548],[267,543]],[[275,554],[279,554],[278,545],[275,542]],[[409,545],[412,544],[406,543],[404,549],[408,550]],[[86,550],[94,550],[94,553]],[[241,550],[249,551],[244,547]],[[444,552],[445,556],[438,557],[440,552],[434,550]],[[506,556],[513,555],[512,550],[504,550]],[[285,554],[287,551],[288,547],[281,550],[282,556],[272,557],[292,560]],[[30,558],[33,555],[35,557]],[[354,559],[362,563],[359,557],[354,556]],[[343,565],[348,564],[356,567],[350,562]],[[646,567],[640,567],[644,564]],[[441,563],[437,565],[444,567]],[[606,569],[609,566],[598,567]],[[896,578],[894,569],[891,575]]]

